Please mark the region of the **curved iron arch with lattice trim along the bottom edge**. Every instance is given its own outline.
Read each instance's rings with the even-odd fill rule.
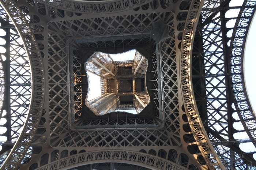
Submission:
[[[138,165],[152,170],[188,170],[187,168],[170,162],[158,156],[127,150],[100,150],[84,152],[56,160],[35,170],[67,170],[72,167],[92,163],[118,162]]]

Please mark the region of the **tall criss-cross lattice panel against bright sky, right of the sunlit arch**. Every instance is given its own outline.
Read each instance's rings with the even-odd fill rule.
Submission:
[[[228,135],[227,97],[222,44],[221,18],[218,14],[203,28],[204,69],[206,74],[206,99],[208,126]]]

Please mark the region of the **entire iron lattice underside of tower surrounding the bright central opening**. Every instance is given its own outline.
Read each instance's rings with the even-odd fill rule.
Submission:
[[[113,162],[120,169],[256,169],[255,152],[239,146],[256,146],[243,74],[255,5],[1,0],[0,116],[6,122],[0,126],[7,130],[0,169],[92,169],[95,163],[113,169]],[[90,114],[81,63],[96,51],[130,49],[148,59],[150,101],[143,93],[138,98],[150,109],[135,116]],[[105,84],[102,79],[102,94]],[[239,139],[241,133],[248,139]]]

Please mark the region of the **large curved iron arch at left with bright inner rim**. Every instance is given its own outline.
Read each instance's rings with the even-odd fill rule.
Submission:
[[[3,165],[0,167],[1,170],[9,170],[18,168],[19,163],[24,158],[27,150],[29,149],[33,136],[37,131],[37,126],[42,113],[42,100],[44,96],[44,72],[37,41],[26,18],[23,16],[22,12],[14,3],[14,1],[2,0],[0,1],[0,4],[3,6],[10,19],[13,21],[16,30],[20,34],[20,38],[22,38],[24,42],[26,52],[30,60],[32,76],[31,103],[26,121],[24,122],[23,129],[20,133],[20,136],[18,137],[18,140],[5,159]]]

